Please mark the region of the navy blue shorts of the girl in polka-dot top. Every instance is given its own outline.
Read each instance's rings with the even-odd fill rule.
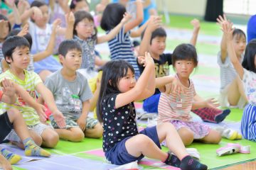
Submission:
[[[151,128],[146,128],[141,132],[139,132],[139,134],[143,134],[149,137],[161,149],[159,138],[156,131],[156,126]],[[105,157],[107,158],[108,161],[110,161],[112,164],[122,165],[122,164],[128,164],[130,162],[142,160],[142,158],[144,157],[143,154],[140,155],[139,157],[134,157],[127,152],[127,149],[125,147],[125,142],[129,140],[129,138],[131,137],[127,137],[121,142],[118,142],[108,152],[105,152]]]

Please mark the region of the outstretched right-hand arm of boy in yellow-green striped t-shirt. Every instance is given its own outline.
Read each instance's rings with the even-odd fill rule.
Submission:
[[[41,94],[43,100],[46,102],[48,108],[53,113],[53,118],[55,122],[58,124],[59,128],[65,128],[65,118],[63,113],[58,111],[57,106],[55,105],[55,101],[53,98],[53,94],[43,83],[39,83],[36,85],[36,91]]]

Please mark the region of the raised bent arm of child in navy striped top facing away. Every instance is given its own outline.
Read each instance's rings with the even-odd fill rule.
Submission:
[[[137,0],[136,2],[136,18],[129,23],[127,23],[124,27],[124,33],[127,33],[129,30],[132,30],[132,28],[139,26],[140,23],[142,23],[144,14],[143,14],[143,4],[141,0]]]

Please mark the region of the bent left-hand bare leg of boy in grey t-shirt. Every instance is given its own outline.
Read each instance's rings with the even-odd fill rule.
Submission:
[[[80,142],[85,138],[84,133],[80,128],[55,129],[60,136],[60,139],[69,140],[71,142]]]

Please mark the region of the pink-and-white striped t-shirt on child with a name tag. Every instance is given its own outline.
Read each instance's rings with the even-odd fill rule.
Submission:
[[[183,86],[184,94],[162,93],[159,99],[159,118],[158,123],[168,122],[170,120],[191,120],[191,108],[193,97],[196,95],[193,82],[189,79],[189,87]]]

